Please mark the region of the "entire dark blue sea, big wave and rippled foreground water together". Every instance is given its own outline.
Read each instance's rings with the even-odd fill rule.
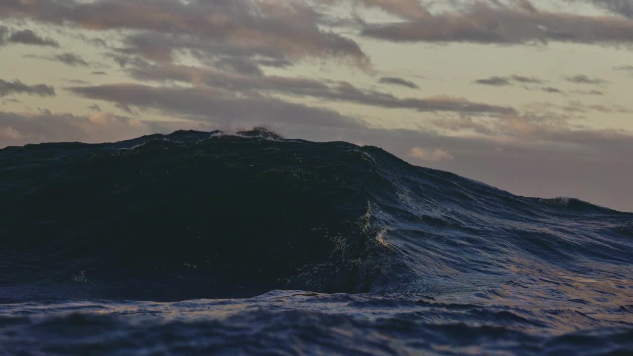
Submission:
[[[632,355],[633,213],[265,129],[4,148],[0,354]]]

